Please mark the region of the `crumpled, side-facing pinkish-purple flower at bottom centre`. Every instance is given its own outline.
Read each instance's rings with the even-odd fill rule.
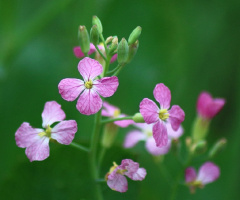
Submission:
[[[128,190],[128,182],[125,176],[134,181],[141,181],[147,174],[144,168],[139,168],[139,164],[131,159],[122,160],[119,166],[115,162],[113,164],[114,166],[110,168],[109,173],[106,175],[106,180],[108,186],[118,192]]]

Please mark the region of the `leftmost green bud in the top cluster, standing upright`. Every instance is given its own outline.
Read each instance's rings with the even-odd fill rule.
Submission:
[[[80,40],[80,47],[84,54],[87,54],[90,50],[90,39],[85,26],[79,26],[78,37]]]

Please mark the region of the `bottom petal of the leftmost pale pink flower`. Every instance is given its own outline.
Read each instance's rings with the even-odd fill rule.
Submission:
[[[49,138],[39,137],[31,146],[26,148],[25,153],[30,162],[45,160],[49,156]]]

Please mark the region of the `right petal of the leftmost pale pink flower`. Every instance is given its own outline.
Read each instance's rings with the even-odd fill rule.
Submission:
[[[58,123],[51,131],[51,138],[57,140],[61,144],[70,144],[77,132],[77,122],[75,120],[67,120]]]

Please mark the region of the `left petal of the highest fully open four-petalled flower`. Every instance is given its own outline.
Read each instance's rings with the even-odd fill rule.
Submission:
[[[76,78],[65,78],[58,84],[59,94],[66,101],[74,101],[84,89],[84,82]]]

